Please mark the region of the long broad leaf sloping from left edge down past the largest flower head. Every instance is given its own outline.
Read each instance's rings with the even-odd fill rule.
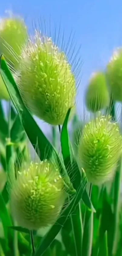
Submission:
[[[59,171],[61,176],[64,180],[64,186],[66,188],[67,193],[73,194],[75,193],[75,189],[72,186],[72,183],[70,181],[70,178],[67,174],[67,171],[61,164],[60,158],[58,154],[56,153],[56,150],[51,145],[51,143],[48,141],[46,136],[43,134],[41,129],[38,127],[37,123],[29,113],[28,109],[25,107],[21,95],[19,93],[18,87],[14,81],[14,78],[6,64],[6,61],[3,57],[3,55],[0,58],[0,74],[2,76],[2,79],[6,85],[6,88],[8,90],[8,93],[12,99],[12,102],[18,112],[18,115],[20,117],[21,123],[25,129],[25,132],[34,147],[35,151],[39,155],[41,160],[44,160],[45,158],[50,159],[53,155],[55,160],[57,160],[59,165]],[[32,131],[34,131],[32,133]],[[37,147],[38,145],[38,147]]]

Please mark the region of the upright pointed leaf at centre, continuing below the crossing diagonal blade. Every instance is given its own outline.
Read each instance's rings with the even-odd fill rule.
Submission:
[[[74,188],[77,190],[81,182],[81,173],[74,159],[73,150],[70,146],[69,136],[68,136],[68,119],[71,112],[71,108],[68,110],[65,117],[62,129],[61,129],[61,150],[64,159],[64,164],[67,169],[68,175],[73,182]],[[75,179],[74,179],[75,174]],[[70,201],[70,197],[69,197]],[[79,205],[77,205],[73,214],[71,214],[71,225],[74,236],[75,251],[76,256],[81,255],[81,241],[82,241],[82,219]],[[78,236],[77,236],[78,234]]]

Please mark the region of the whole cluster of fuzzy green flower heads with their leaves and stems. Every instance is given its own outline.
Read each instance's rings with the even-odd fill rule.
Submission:
[[[91,76],[80,120],[81,62],[58,42],[0,21],[0,256],[121,256],[122,53]]]

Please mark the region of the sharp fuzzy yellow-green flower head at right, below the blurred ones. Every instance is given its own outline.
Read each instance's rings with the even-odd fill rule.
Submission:
[[[98,116],[85,125],[78,146],[78,161],[89,182],[99,185],[110,180],[121,153],[122,137],[110,116]]]

